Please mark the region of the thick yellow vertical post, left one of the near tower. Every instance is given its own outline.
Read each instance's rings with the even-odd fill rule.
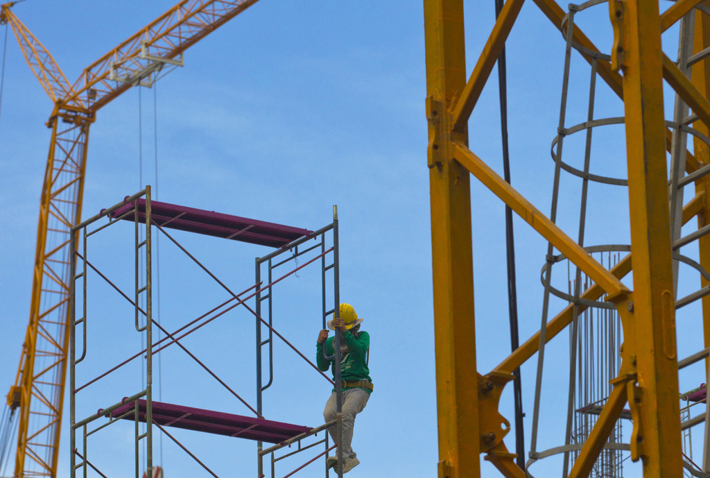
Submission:
[[[425,0],[427,120],[432,227],[432,280],[437,371],[439,478],[481,476],[476,377],[471,175],[452,154],[447,106],[466,85],[464,3]]]

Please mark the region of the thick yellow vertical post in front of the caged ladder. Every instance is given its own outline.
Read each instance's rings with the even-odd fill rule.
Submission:
[[[632,447],[645,477],[682,477],[658,2],[626,0],[620,16],[634,286],[627,307],[640,389],[635,436],[643,439]]]

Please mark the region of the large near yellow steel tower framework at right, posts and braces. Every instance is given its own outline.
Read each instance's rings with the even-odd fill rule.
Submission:
[[[566,12],[557,2],[533,2],[555,28],[564,31]],[[586,2],[584,6],[593,3],[601,2]],[[678,370],[708,355],[710,289],[709,281],[701,277],[701,288],[692,297],[702,298],[706,348],[679,361],[675,310],[684,305],[686,298],[676,300],[674,251],[687,244],[697,244],[701,269],[707,271],[710,266],[710,177],[707,175],[710,146],[699,135],[694,135],[694,153],[684,151],[682,135],[674,135],[665,126],[662,87],[666,80],[674,89],[681,112],[683,107],[692,109],[692,115],[682,117],[682,126],[693,124],[694,130],[707,137],[710,49],[706,51],[706,48],[710,46],[710,10],[699,0],[679,0],[661,14],[656,0],[611,0],[608,2],[614,33],[611,55],[600,55],[579,28],[574,28],[568,36],[579,53],[590,64],[594,63],[596,75],[624,103],[631,244],[630,254],[621,257],[608,271],[578,241],[570,239],[557,227],[555,207],[550,217],[542,214],[468,147],[469,116],[481,97],[523,0],[506,1],[468,80],[463,0],[425,0],[424,6],[439,477],[480,477],[481,454],[506,477],[526,476],[514,461],[516,455],[508,452],[503,442],[510,429],[508,420],[498,411],[503,388],[513,379],[515,369],[537,352],[542,356],[545,344],[584,313],[589,307],[585,300],[599,300],[602,296],[621,318],[624,340],[621,364],[569,476],[589,476],[628,401],[633,420],[631,459],[642,460],[645,477],[681,477]],[[689,40],[692,43],[689,58],[695,62],[692,67],[683,60],[674,63],[661,48],[661,33],[681,18],[694,22],[694,34]],[[677,131],[681,129],[678,125]],[[682,196],[669,194],[666,151],[674,150],[684,154],[676,151],[672,155],[674,161],[683,158],[682,174],[678,175],[677,168],[671,168],[675,174],[672,186],[677,187],[687,173],[684,180],[693,182],[696,188],[695,197],[685,205],[678,203]],[[471,337],[475,337],[476,332],[472,312],[471,175],[548,241],[548,264],[552,251],[557,249],[592,281],[589,288],[581,290],[577,303],[569,304],[551,320],[544,320],[539,332],[487,374],[477,371],[476,349],[471,346],[475,343]],[[555,175],[557,182],[559,158]],[[679,237],[680,224],[692,217],[698,218],[697,231]],[[621,278],[631,272],[632,256],[633,290],[630,290],[621,283]],[[549,281],[548,274],[546,288],[550,286]],[[538,406],[537,398],[536,402]],[[706,446],[707,443],[708,440]],[[705,453],[703,471],[697,476],[705,476],[703,473],[709,471],[708,455]]]

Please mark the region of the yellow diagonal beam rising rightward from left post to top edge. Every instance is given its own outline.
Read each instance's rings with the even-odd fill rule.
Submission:
[[[469,121],[471,112],[474,111],[484,86],[486,86],[488,76],[491,75],[493,70],[493,65],[496,65],[498,56],[501,55],[501,50],[506,45],[506,39],[510,30],[513,29],[515,18],[518,18],[518,13],[523,8],[523,1],[508,0],[503,5],[501,14],[498,16],[491,35],[488,36],[488,41],[486,46],[484,46],[483,52],[481,52],[481,56],[479,56],[474,71],[471,73],[469,81],[466,82],[466,87],[461,92],[461,97],[452,109],[454,131],[464,131],[466,129],[466,123]]]

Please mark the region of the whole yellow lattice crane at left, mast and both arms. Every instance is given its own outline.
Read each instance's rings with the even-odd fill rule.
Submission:
[[[40,201],[30,317],[14,384],[18,412],[14,477],[56,477],[67,368],[70,228],[80,222],[89,126],[133,86],[150,86],[182,65],[182,53],[257,0],[183,0],[82,71],[72,84],[49,51],[1,6],[23,55],[54,104]]]

